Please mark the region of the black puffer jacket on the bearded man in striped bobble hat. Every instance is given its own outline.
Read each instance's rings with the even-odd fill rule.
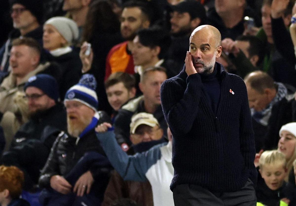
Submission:
[[[65,132],[60,133],[41,171],[39,186],[49,188],[50,178],[54,175],[67,176],[78,163],[78,160],[87,152],[97,152],[107,159],[99,140],[96,138],[94,129],[79,140],[67,135]],[[102,178],[101,173],[103,171],[108,173],[111,170],[111,166],[102,167],[101,165],[91,164],[89,170],[94,180],[97,181]]]

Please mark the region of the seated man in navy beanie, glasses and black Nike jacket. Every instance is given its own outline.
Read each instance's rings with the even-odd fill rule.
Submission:
[[[44,166],[52,144],[61,130],[66,129],[66,112],[59,102],[57,81],[50,75],[38,74],[24,86],[24,110],[29,121],[22,125],[1,162],[19,167],[25,174],[25,190],[38,184],[39,171]],[[10,144],[11,140],[6,140]],[[8,145],[9,146],[9,145]]]

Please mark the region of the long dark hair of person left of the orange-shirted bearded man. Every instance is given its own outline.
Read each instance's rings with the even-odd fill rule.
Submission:
[[[89,5],[86,15],[82,42],[89,42],[94,34],[120,32],[118,16],[113,12],[111,2],[107,0],[96,0]]]

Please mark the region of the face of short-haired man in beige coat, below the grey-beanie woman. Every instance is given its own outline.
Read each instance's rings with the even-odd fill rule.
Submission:
[[[9,58],[12,74],[22,77],[32,71],[36,67],[36,55],[27,45],[13,46]]]

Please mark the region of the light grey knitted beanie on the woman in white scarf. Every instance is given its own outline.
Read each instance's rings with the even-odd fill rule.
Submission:
[[[78,26],[72,19],[66,17],[52,17],[44,24],[51,24],[65,38],[68,43],[78,40]]]

